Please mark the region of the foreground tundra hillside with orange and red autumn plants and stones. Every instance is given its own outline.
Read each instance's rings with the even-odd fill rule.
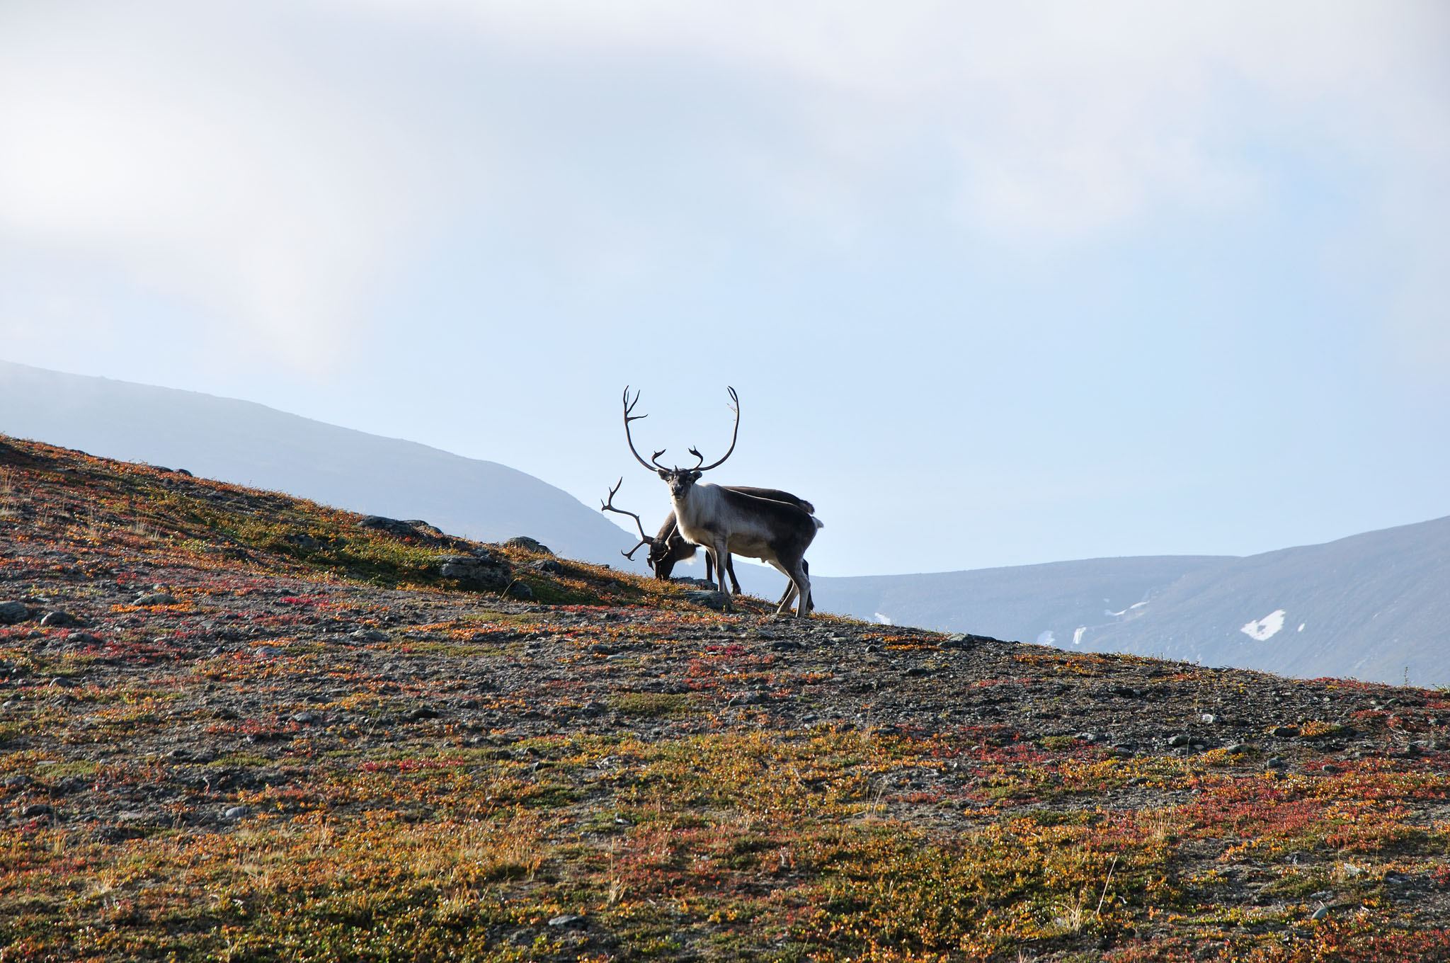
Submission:
[[[1450,959],[1444,693],[709,603],[0,439],[0,959]]]

